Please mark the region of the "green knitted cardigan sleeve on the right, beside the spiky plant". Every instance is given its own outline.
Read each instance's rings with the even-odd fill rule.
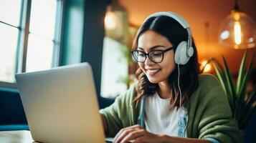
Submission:
[[[199,139],[212,138],[223,143],[241,142],[237,120],[232,118],[224,89],[215,77],[208,78],[211,88],[201,97],[202,101],[196,111],[200,118],[197,126]],[[207,89],[207,86],[205,88]]]

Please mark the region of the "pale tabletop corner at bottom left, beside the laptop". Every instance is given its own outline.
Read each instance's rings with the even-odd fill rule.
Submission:
[[[0,143],[36,143],[29,131],[1,131]]]

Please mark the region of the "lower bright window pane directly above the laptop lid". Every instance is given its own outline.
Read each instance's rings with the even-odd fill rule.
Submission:
[[[52,67],[53,42],[29,34],[26,71],[39,71]]]

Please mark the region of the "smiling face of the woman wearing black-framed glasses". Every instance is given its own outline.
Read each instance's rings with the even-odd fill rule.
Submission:
[[[173,45],[165,36],[148,30],[139,36],[137,50],[148,54],[149,51],[164,50],[171,46]],[[163,61],[160,63],[154,63],[147,56],[146,61],[144,63],[138,62],[138,65],[151,83],[168,82],[169,76],[175,69],[174,50],[166,51],[163,54]]]

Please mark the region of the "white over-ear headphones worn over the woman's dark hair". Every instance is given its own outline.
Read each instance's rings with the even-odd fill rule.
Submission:
[[[179,24],[181,24],[181,26],[183,26],[184,29],[186,29],[186,31],[188,32],[188,41],[181,41],[181,43],[179,43],[179,45],[176,48],[175,56],[174,56],[174,61],[176,64],[182,64],[182,65],[186,64],[189,61],[190,57],[193,56],[194,54],[194,49],[192,47],[192,36],[191,36],[191,30],[190,30],[189,24],[181,16],[171,11],[156,12],[154,14],[149,15],[145,19],[145,21],[147,19],[150,19],[151,17],[156,17],[156,16],[169,16],[175,19],[176,21],[178,21]],[[143,23],[145,21],[143,21]]]

